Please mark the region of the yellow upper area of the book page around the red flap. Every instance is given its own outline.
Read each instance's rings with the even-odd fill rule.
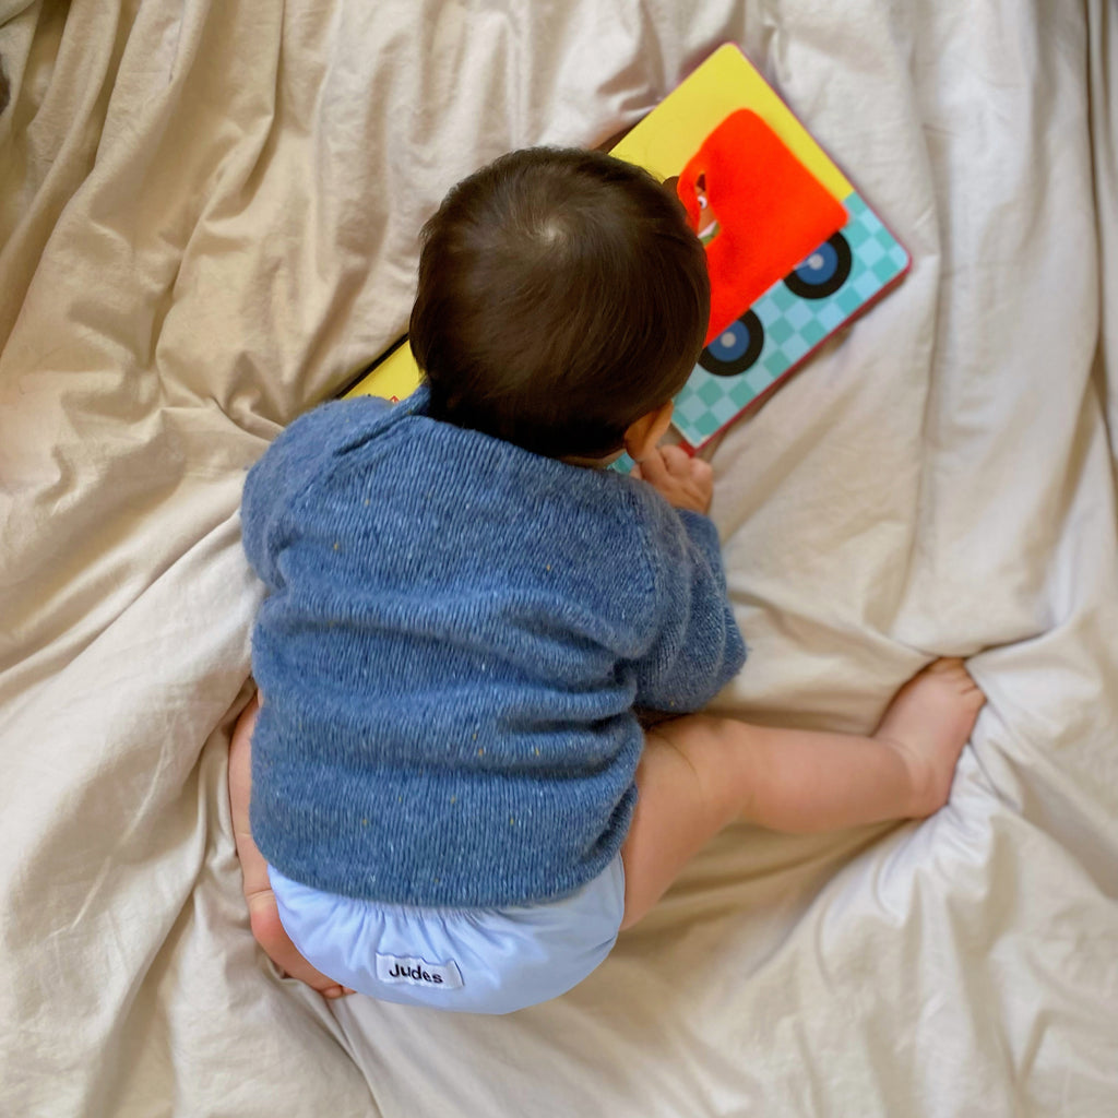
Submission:
[[[751,108],[818,179],[843,201],[854,188],[792,110],[732,44],[719,47],[614,149],[659,179],[679,174],[703,140],[738,108]],[[748,153],[743,154],[748,158]]]

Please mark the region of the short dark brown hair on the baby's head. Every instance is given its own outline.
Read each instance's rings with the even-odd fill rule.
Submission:
[[[699,238],[667,189],[603,152],[503,155],[447,195],[421,244],[409,331],[436,418],[605,456],[702,349]]]

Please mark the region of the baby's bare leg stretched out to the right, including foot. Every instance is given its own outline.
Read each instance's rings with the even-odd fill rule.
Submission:
[[[963,661],[937,660],[898,692],[868,738],[702,714],[650,730],[622,850],[622,927],[644,916],[735,818],[807,833],[930,815],[947,803],[984,701]]]

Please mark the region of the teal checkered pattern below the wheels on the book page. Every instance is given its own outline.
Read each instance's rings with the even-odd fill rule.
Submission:
[[[765,347],[757,363],[737,377],[712,377],[695,366],[675,397],[673,423],[692,446],[701,446],[787,376],[908,267],[908,253],[859,195],[852,193],[844,205],[849,220],[842,234],[852,256],[846,282],[833,295],[805,300],[780,280],[754,303],[752,311],[765,329]]]

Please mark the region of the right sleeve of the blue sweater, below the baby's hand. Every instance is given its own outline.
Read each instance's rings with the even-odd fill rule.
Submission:
[[[637,663],[636,704],[700,710],[746,661],[727,597],[718,531],[700,513],[645,500],[656,632]]]

